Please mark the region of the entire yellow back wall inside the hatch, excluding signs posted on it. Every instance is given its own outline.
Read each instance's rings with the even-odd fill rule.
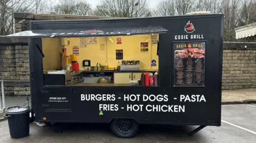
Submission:
[[[122,44],[117,44],[117,38],[122,39]],[[80,45],[80,38],[69,38],[70,45],[67,47],[67,55],[73,54],[73,47]],[[148,53],[142,53],[140,44],[148,42]],[[105,50],[100,50],[100,44],[105,45]],[[87,45],[79,47],[79,55],[77,62],[79,70],[84,70],[83,60],[91,60],[91,66],[95,66],[97,62],[105,65],[106,60],[108,66],[116,68],[118,61],[121,64],[123,60],[116,60],[116,49],[123,49],[123,60],[139,60],[141,70],[158,69],[157,45],[151,45],[151,35],[136,35],[136,36],[113,36],[113,37],[98,37],[97,45]],[[151,61],[156,60],[157,66],[151,67]]]

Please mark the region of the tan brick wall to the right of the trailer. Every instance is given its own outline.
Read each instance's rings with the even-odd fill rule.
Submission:
[[[256,88],[256,49],[223,50],[222,89]]]

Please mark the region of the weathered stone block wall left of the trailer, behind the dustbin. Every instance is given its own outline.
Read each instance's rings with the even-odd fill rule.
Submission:
[[[30,94],[27,40],[0,38],[0,80],[4,80],[5,95]]]

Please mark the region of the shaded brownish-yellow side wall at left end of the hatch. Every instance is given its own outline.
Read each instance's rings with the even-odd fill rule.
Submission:
[[[42,38],[44,70],[61,70],[61,38]]]

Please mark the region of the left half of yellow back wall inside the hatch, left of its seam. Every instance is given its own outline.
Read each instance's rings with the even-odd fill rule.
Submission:
[[[96,66],[97,62],[104,65],[106,62],[106,46],[105,50],[100,50],[100,44],[106,44],[106,37],[97,37],[97,45],[88,45],[86,47],[79,47],[80,38],[69,38],[70,45],[67,47],[67,55],[73,54],[73,47],[79,48],[79,55],[77,56],[77,62],[79,64],[79,70],[84,70],[83,60],[91,60],[91,66]]]

